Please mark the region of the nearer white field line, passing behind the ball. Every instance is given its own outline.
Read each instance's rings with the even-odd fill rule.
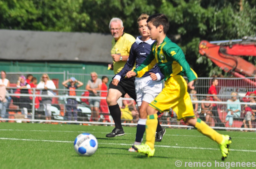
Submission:
[[[59,140],[34,140],[34,139],[20,139],[20,138],[1,138],[0,140],[18,140],[18,141],[42,141],[42,142],[57,142],[57,143],[74,143],[73,141],[59,141]],[[111,145],[127,145],[132,144],[116,144],[116,143],[99,143],[99,144],[111,144]],[[165,147],[165,148],[185,148],[185,149],[200,149],[200,150],[219,150],[217,148],[203,148],[203,147],[180,147],[180,146],[169,146],[169,145],[155,145],[155,147]],[[256,152],[256,150],[236,150],[230,149],[230,151],[243,151],[243,152]]]

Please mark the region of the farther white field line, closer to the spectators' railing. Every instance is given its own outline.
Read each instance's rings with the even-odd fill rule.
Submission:
[[[68,132],[68,133],[101,133],[105,134],[108,132],[96,132],[96,131],[60,131],[60,130],[13,130],[13,129],[0,129],[0,131],[37,131],[37,132]],[[253,133],[253,132],[251,132]],[[135,133],[125,133],[135,134]],[[176,135],[176,134],[165,134],[165,136],[181,136],[181,137],[205,137],[205,136],[194,136],[194,135]],[[243,138],[243,139],[256,139],[256,137],[231,137],[231,138]]]

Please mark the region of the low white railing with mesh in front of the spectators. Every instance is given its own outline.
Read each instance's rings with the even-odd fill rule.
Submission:
[[[1,112],[1,120],[8,120],[9,122],[114,124],[108,111],[106,97],[83,95],[86,92],[88,94],[86,90],[77,90],[77,96],[68,96],[67,89],[56,89],[58,95],[41,95],[35,88],[29,89],[31,94],[20,94],[15,89],[12,88],[12,93],[9,94],[11,100],[9,100],[6,113]],[[219,98],[222,97],[222,102],[209,100],[207,96],[212,95],[191,95],[191,98],[197,98],[192,99],[193,105],[197,107],[194,111],[195,116],[217,129],[225,127],[227,130],[256,130],[255,112],[253,111],[256,110],[256,103],[243,102],[244,97],[242,96],[237,96],[241,102],[232,102],[232,104],[228,101],[231,99],[230,95],[217,95]],[[247,96],[248,98],[255,97]],[[99,112],[90,107],[92,100],[100,102]],[[124,114],[122,116],[123,123],[136,125],[138,112],[132,108],[123,107],[123,100],[133,101],[132,98],[120,99],[119,106]],[[236,116],[227,110],[228,104],[231,107],[240,106],[241,110],[236,113]],[[182,121],[177,121],[175,112],[172,110],[164,111],[159,115],[159,121],[163,126],[189,128]]]

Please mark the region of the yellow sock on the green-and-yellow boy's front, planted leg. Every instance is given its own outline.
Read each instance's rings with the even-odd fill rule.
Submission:
[[[148,144],[151,150],[155,147],[156,140],[156,127],[157,127],[157,114],[148,115],[146,121],[146,144]]]

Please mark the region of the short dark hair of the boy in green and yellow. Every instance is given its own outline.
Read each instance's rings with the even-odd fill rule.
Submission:
[[[169,21],[168,18],[161,13],[154,14],[148,17],[147,23],[152,22],[152,24],[156,27],[159,25],[163,25],[164,27],[164,34],[166,34],[169,30]]]

